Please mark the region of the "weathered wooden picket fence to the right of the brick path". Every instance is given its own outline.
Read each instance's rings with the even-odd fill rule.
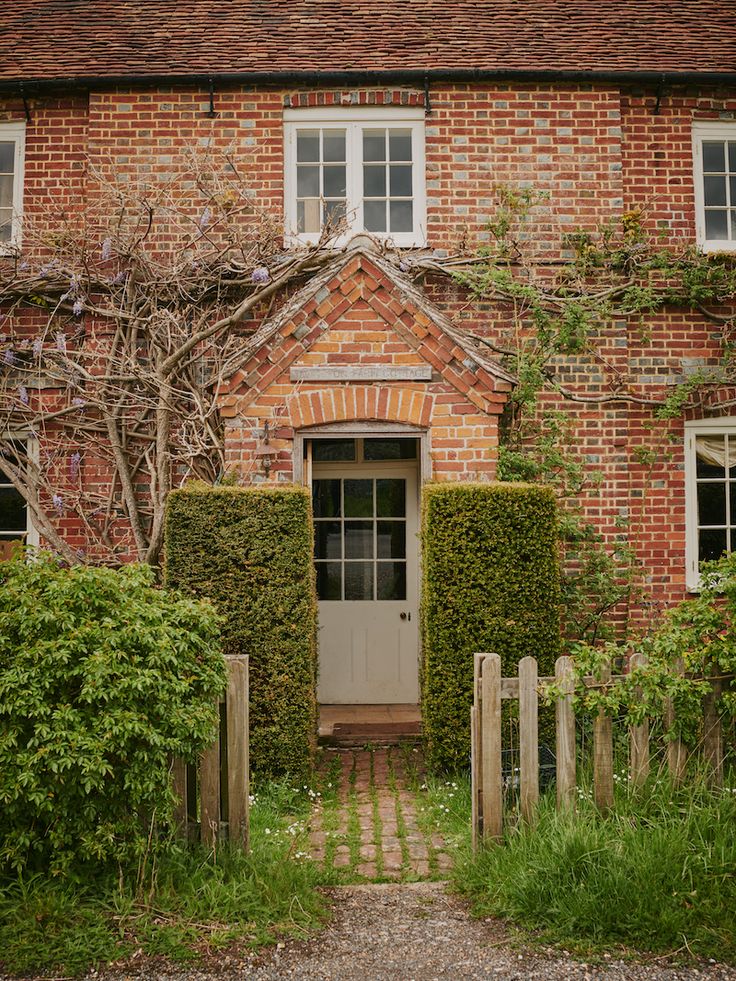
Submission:
[[[635,654],[632,667],[641,664],[643,655]],[[676,670],[682,671],[680,663]],[[602,687],[616,681],[606,669],[600,678],[584,679],[589,688]],[[711,768],[715,784],[723,780],[723,734],[716,703],[723,679],[712,682],[712,690],[703,700],[703,755]],[[572,705],[574,687],[573,663],[560,657],[555,675],[540,677],[533,657],[519,661],[518,677],[501,677],[501,658],[498,654],[476,654],[474,659],[473,706],[470,710],[471,788],[473,846],[481,839],[498,840],[503,834],[503,764],[501,702],[519,702],[519,810],[521,818],[533,822],[539,801],[539,686],[555,682],[562,693],[555,703],[555,774],[558,810],[575,807],[576,739],[575,713]],[[670,725],[673,708],[667,706],[665,722]],[[629,728],[630,776],[634,784],[643,783],[649,775],[649,722]],[[685,776],[687,754],[679,740],[667,744],[667,763],[675,782]],[[602,710],[593,720],[593,793],[601,811],[613,805],[613,727],[610,716]]]

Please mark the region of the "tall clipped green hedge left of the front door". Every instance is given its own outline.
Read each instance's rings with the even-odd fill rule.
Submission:
[[[317,600],[304,488],[189,484],[169,498],[166,583],[211,599],[250,655],[251,765],[303,777],[317,729]]]

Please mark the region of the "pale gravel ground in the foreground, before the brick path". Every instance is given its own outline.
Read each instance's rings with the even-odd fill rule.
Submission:
[[[618,960],[591,966],[564,954],[512,947],[495,921],[471,919],[462,902],[438,882],[344,886],[331,889],[335,916],[310,941],[293,941],[260,957],[223,958],[206,970],[189,968],[90,976],[95,981],[433,981],[515,978],[582,981],[585,978],[733,979],[719,964],[671,967],[661,961]]]

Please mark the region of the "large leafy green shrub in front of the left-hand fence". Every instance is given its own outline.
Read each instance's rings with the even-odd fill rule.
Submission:
[[[126,863],[172,817],[169,763],[211,741],[214,611],[145,566],[0,564],[0,866]]]

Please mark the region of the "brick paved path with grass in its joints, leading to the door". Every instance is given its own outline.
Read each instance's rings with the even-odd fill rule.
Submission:
[[[442,878],[450,867],[441,835],[416,805],[418,751],[404,747],[327,750],[322,797],[312,814],[311,854],[338,878]]]

